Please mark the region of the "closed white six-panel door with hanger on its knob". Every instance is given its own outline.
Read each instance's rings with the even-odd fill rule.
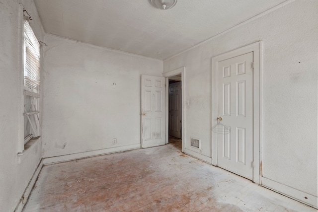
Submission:
[[[230,129],[218,134],[218,166],[250,180],[253,180],[252,62],[250,52],[218,63],[218,117]]]

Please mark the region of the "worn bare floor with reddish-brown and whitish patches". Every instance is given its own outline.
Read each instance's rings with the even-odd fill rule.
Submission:
[[[310,212],[184,155],[181,142],[44,166],[24,212]]]

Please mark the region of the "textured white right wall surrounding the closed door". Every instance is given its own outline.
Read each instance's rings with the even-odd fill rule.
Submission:
[[[211,59],[261,40],[263,177],[316,197],[317,11],[318,1],[291,2],[163,63],[164,72],[186,67],[185,138],[211,157]]]

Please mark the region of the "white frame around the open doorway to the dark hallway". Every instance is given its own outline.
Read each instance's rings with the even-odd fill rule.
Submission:
[[[175,76],[181,73],[181,139],[182,139],[182,152],[184,152],[185,147],[185,67],[180,67],[178,69],[164,72],[162,76],[165,77],[165,143],[169,142],[169,76]]]

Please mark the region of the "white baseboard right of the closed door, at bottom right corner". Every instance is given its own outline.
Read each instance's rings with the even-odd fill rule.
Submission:
[[[314,195],[299,191],[292,187],[270,180],[266,177],[261,177],[261,185],[277,193],[283,194],[287,197],[318,209],[318,197],[315,197]]]

